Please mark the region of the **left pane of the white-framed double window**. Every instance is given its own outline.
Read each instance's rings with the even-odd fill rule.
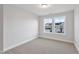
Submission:
[[[44,32],[52,32],[52,19],[44,19]]]

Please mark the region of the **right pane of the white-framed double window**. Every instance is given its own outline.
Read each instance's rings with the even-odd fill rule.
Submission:
[[[65,16],[54,17],[54,25],[56,33],[64,33]]]

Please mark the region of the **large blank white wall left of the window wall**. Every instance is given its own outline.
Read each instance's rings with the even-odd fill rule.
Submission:
[[[37,16],[11,5],[4,5],[4,50],[38,35]]]

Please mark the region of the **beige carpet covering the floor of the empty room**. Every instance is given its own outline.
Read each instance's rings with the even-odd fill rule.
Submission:
[[[6,54],[77,54],[73,44],[38,38],[13,48]]]

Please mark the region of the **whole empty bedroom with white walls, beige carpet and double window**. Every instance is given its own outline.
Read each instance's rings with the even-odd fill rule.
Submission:
[[[78,4],[0,4],[1,54],[78,54]]]

